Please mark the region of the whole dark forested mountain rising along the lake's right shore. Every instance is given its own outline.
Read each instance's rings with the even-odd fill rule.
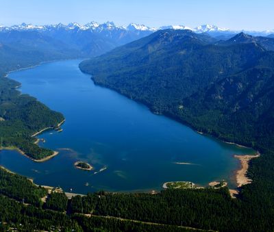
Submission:
[[[80,68],[153,112],[232,142],[274,148],[274,53],[261,41],[238,34],[219,44],[205,34],[168,29]]]

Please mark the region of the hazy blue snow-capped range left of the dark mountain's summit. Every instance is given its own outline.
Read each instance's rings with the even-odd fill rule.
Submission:
[[[51,54],[51,59],[55,60],[100,55],[151,33],[145,26],[132,24],[125,29],[110,22],[45,26],[22,23],[0,26],[0,43],[18,51],[42,51],[43,55]]]

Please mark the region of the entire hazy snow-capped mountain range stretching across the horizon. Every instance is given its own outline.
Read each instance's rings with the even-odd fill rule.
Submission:
[[[16,43],[20,48],[40,47],[45,50],[51,49],[62,52],[77,54],[81,57],[101,55],[115,47],[119,47],[128,42],[149,36],[159,29],[192,30],[195,33],[207,33],[216,40],[228,40],[241,31],[232,31],[214,25],[201,25],[191,28],[185,25],[169,25],[160,27],[147,27],[136,23],[130,23],[127,27],[117,26],[113,22],[97,23],[90,22],[85,25],[80,23],[69,23],[64,25],[32,25],[22,23],[6,27],[0,25],[0,43]],[[28,33],[26,33],[26,31]],[[268,36],[274,34],[272,31],[244,31],[252,36]],[[65,49],[67,48],[67,49]]]

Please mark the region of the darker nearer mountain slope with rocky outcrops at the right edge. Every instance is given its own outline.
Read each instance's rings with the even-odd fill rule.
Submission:
[[[249,68],[184,99],[177,114],[200,131],[267,151],[274,148],[273,83],[273,68]]]

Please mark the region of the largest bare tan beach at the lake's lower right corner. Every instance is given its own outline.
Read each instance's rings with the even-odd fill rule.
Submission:
[[[256,155],[234,155],[236,159],[240,161],[241,168],[236,170],[236,183],[237,187],[240,188],[242,185],[246,185],[252,182],[252,179],[247,177],[247,170],[249,168],[249,162],[251,159],[260,157],[260,153],[257,152]]]

